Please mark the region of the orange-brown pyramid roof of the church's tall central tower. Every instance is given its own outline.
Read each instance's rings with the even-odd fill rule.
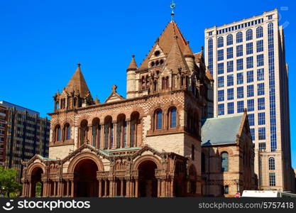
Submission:
[[[163,33],[161,33],[160,37],[157,39],[157,42],[155,43],[155,45],[153,45],[153,48],[150,50],[150,52],[146,56],[145,60],[143,60],[139,68],[145,69],[148,67],[148,60],[154,53],[156,44],[160,46],[160,48],[163,50],[165,54],[168,54],[172,47],[172,43],[175,39],[175,36],[177,36],[178,38],[177,43],[180,47],[181,52],[183,53],[183,51],[185,50],[185,46],[187,45],[187,42],[182,33],[180,32],[180,29],[177,27],[175,21],[171,21],[170,23],[168,23],[168,26],[166,26]]]

